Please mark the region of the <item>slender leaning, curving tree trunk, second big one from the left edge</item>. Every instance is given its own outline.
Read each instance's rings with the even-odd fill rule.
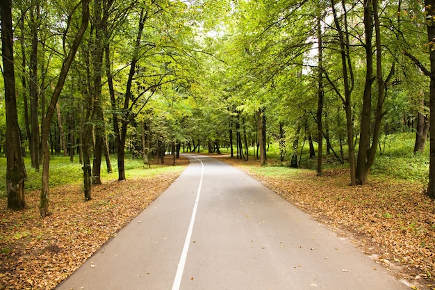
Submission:
[[[65,61],[63,62],[62,68],[60,70],[60,74],[58,76],[58,83],[54,88],[54,92],[53,95],[51,96],[51,101],[47,109],[47,115],[45,115],[44,122],[42,122],[42,156],[44,157],[43,166],[42,166],[42,190],[41,190],[41,199],[40,199],[40,213],[42,217],[45,217],[49,214],[50,153],[49,153],[48,140],[49,140],[51,118],[53,118],[54,108],[56,108],[56,104],[58,102],[60,92],[62,92],[63,85],[65,84],[65,79],[67,78],[69,67],[71,67],[72,62],[74,61],[74,56],[76,55],[77,49],[79,49],[79,45],[81,43],[83,35],[85,34],[86,29],[88,28],[89,0],[82,0],[81,5],[82,5],[81,26],[79,28],[79,31],[77,31],[71,49],[69,50],[69,53],[65,58]]]

